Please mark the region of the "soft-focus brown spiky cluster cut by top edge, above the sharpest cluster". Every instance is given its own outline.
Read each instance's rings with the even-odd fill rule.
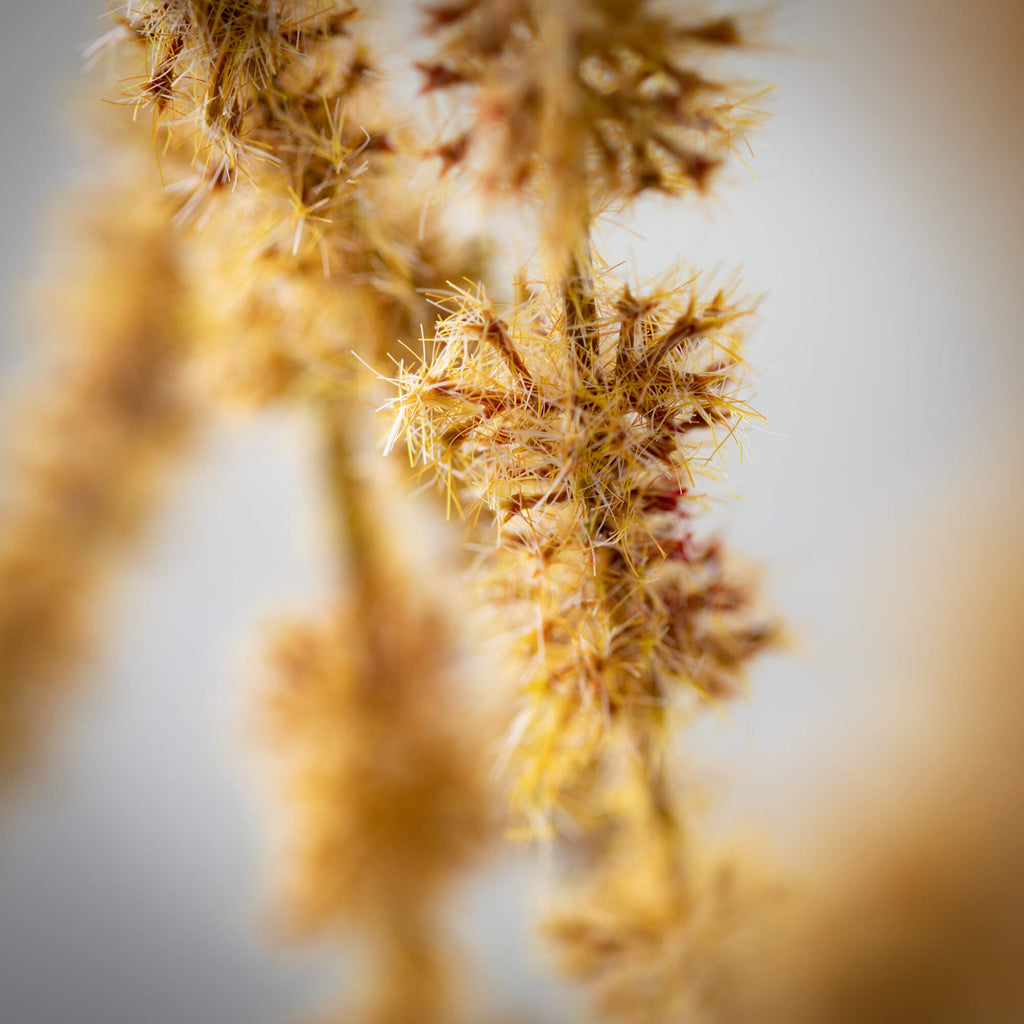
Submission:
[[[439,151],[445,164],[482,150],[485,183],[536,189],[549,206],[559,194],[600,208],[650,188],[702,189],[756,120],[752,97],[707,71],[750,45],[736,17],[651,0],[454,0],[427,13],[441,42],[420,66],[425,88],[468,86],[476,100]]]

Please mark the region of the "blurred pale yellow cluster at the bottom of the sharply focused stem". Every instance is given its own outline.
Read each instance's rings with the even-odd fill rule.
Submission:
[[[754,851],[694,842],[690,798],[671,772],[652,778],[635,758],[618,769],[599,800],[596,842],[567,871],[545,938],[562,973],[587,984],[588,1020],[719,1021],[756,941],[752,920],[775,902],[775,887]]]

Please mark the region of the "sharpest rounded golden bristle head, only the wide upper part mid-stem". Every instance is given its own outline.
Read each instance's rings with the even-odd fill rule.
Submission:
[[[637,300],[609,280],[583,329],[554,293],[504,311],[482,291],[447,301],[427,368],[399,379],[395,433],[498,515],[510,544],[668,543],[696,477],[756,418],[751,309],[721,292],[690,282]]]

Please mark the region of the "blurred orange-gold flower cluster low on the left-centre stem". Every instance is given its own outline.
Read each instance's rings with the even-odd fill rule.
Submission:
[[[451,654],[436,617],[401,601],[283,628],[265,705],[288,818],[294,927],[380,927],[423,912],[478,853],[481,751],[445,719]]]

